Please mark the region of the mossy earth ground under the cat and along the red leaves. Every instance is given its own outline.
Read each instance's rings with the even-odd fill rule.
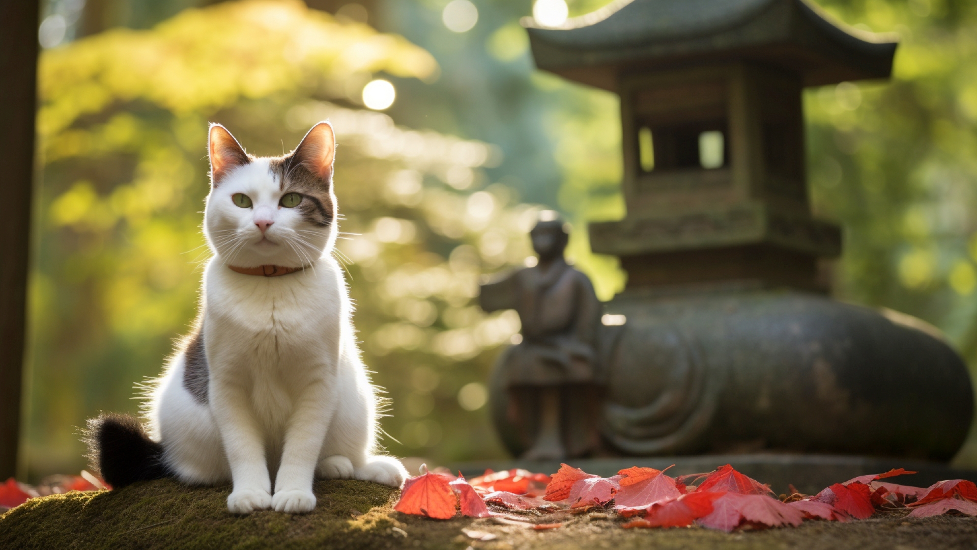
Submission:
[[[234,516],[225,504],[229,493],[227,486],[164,480],[33,499],[0,517],[0,548],[977,550],[977,518],[961,516],[913,520],[908,512],[893,512],[849,524],[812,521],[725,533],[701,527],[624,529],[614,514],[594,510],[562,518],[563,527],[535,530],[504,518],[404,516],[392,508],[397,490],[363,481],[317,481],[319,505],[301,516]],[[554,519],[561,518],[538,515],[531,521]]]

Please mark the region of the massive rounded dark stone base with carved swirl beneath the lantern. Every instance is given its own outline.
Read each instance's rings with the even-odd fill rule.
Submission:
[[[602,337],[610,454],[949,460],[973,417],[966,365],[906,315],[796,292],[635,291],[606,309],[627,320]],[[504,393],[490,404],[518,456]]]

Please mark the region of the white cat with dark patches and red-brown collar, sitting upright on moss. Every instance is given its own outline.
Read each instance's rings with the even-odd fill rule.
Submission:
[[[233,481],[236,514],[309,512],[317,476],[400,486],[404,466],[376,454],[376,390],[331,254],[332,127],[319,122],[277,158],[248,155],[216,123],[208,142],[213,256],[197,321],[150,387],[147,427],[120,415],[89,421],[93,467],[115,487]]]

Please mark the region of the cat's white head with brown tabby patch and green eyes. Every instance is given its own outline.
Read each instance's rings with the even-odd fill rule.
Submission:
[[[336,239],[332,127],[319,122],[291,153],[253,157],[227,128],[211,124],[210,195],[204,234],[239,267],[309,265]]]

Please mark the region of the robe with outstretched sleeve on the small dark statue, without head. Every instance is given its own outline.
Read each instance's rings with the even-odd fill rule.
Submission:
[[[555,260],[483,285],[486,311],[515,309],[523,342],[507,352],[508,386],[558,386],[595,379],[601,303],[586,275]]]

